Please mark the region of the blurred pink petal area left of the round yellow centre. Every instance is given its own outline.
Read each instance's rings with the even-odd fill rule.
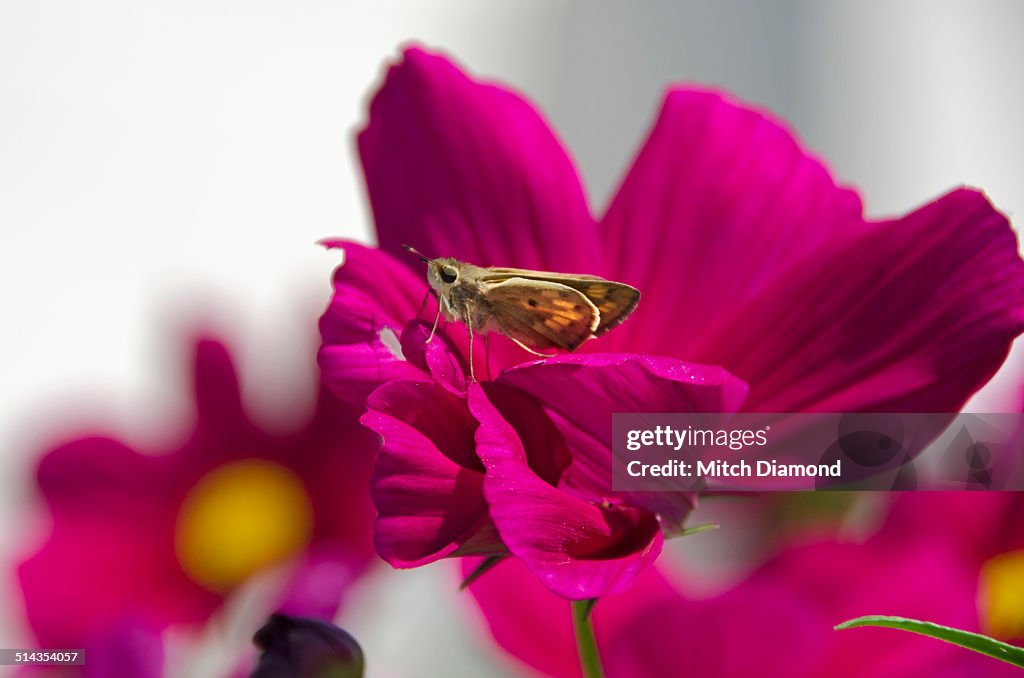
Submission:
[[[125,616],[158,627],[198,622],[219,601],[177,565],[174,514],[165,508],[177,489],[164,484],[162,462],[106,438],[76,440],[43,459],[39,484],[53,532],[18,567],[43,646],[80,646]]]

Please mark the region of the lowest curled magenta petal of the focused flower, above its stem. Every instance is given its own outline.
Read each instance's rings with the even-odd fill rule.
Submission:
[[[549,589],[571,599],[624,591],[662,551],[652,513],[598,507],[539,477],[515,429],[471,384],[479,422],[477,454],[486,467],[483,492],[502,541]]]

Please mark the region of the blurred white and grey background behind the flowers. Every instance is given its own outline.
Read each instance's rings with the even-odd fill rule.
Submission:
[[[0,1],[5,559],[45,529],[27,502],[29,460],[47,440],[97,417],[133,441],[179,430],[189,328],[232,339],[269,425],[308,402],[312,322],[336,260],[313,243],[371,238],[352,132],[401,43],[526,92],[597,213],[665,85],[695,81],[787,119],[869,214],[970,183],[1013,217],[1021,26],[1012,0]],[[1005,370],[974,409],[1013,407],[1020,376]],[[352,623],[376,675],[440,673],[466,652],[445,578],[401,574],[367,594],[378,612]],[[407,596],[431,616],[385,621]],[[19,600],[3,597],[10,646]]]

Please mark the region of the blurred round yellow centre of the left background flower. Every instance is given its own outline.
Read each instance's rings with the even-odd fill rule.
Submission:
[[[174,546],[188,577],[223,592],[302,550],[312,524],[299,477],[280,464],[247,459],[200,478],[181,503]]]

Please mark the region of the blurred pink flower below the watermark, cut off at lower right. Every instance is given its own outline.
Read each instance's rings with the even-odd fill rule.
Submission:
[[[927,497],[900,501],[929,503]],[[823,540],[783,548],[711,598],[694,598],[648,569],[629,594],[608,596],[594,609],[608,678],[1016,676],[1019,670],[1009,665],[931,638],[885,629],[833,631],[869,613],[984,630],[977,564],[957,549],[967,536],[909,536],[895,527],[890,520],[859,545]],[[581,675],[567,601],[539,586],[520,563],[499,564],[470,592],[509,653],[544,675]]]

